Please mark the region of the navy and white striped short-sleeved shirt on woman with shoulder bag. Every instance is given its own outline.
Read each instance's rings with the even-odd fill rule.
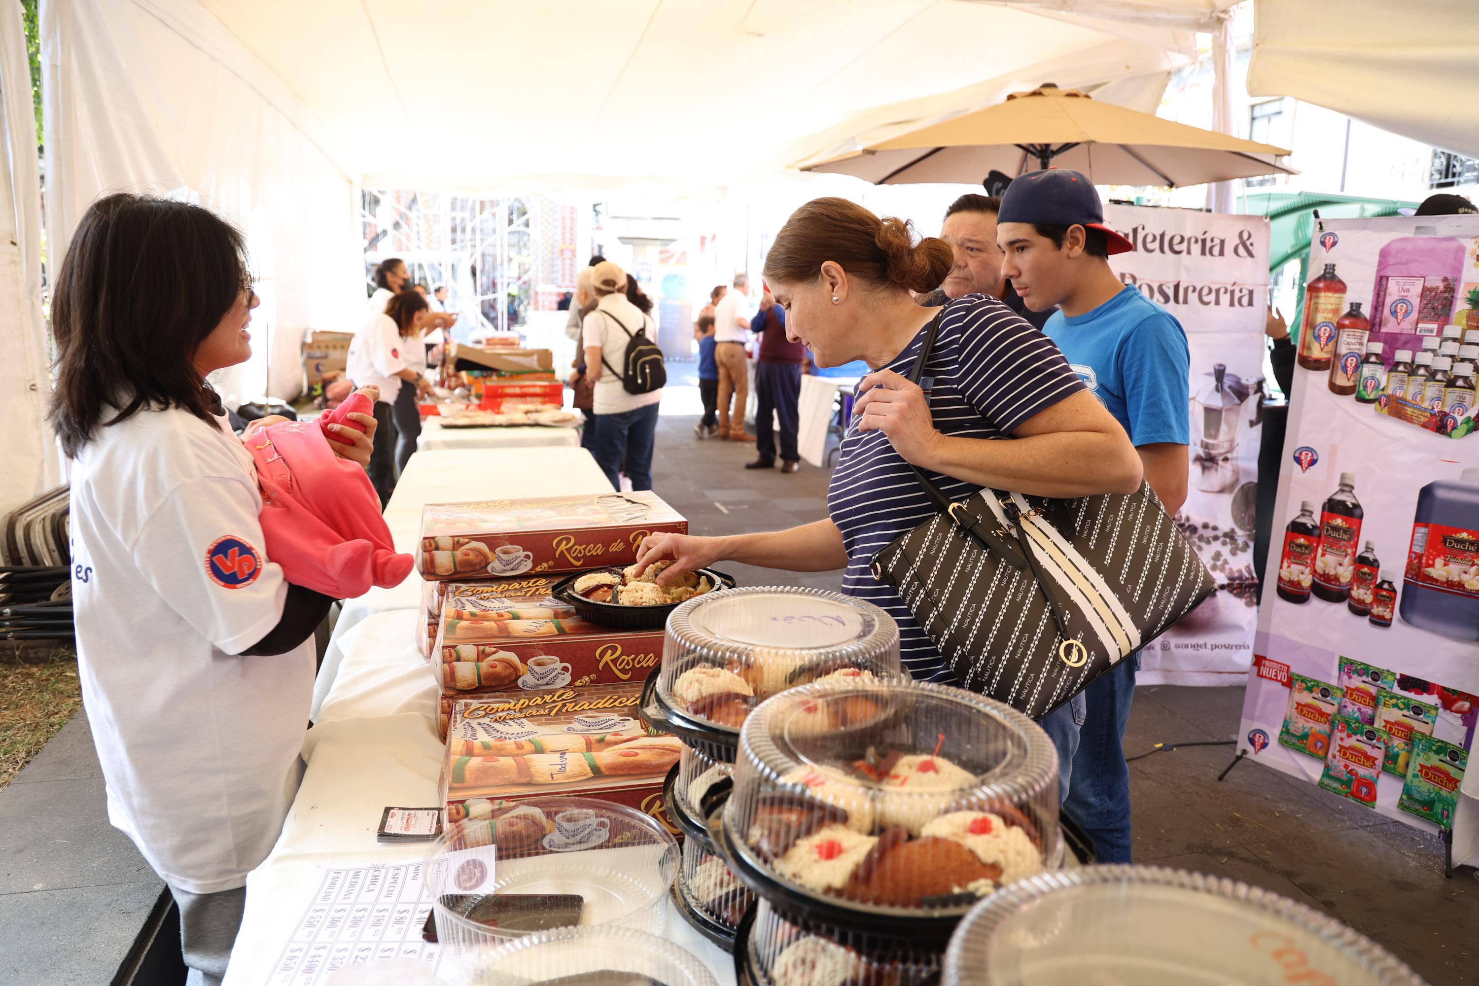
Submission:
[[[927,327],[886,370],[908,377],[924,344]],[[945,309],[923,377],[933,377],[930,415],[944,435],[1006,439],[1038,411],[1084,389],[1078,374],[1047,336],[1001,302],[969,294]],[[981,486],[926,470],[952,503]],[[842,591],[880,606],[899,624],[899,650],[916,680],[955,684],[945,659],[914,621],[908,606],[868,565],[893,538],[935,514],[914,470],[893,451],[883,432],[856,430],[842,442],[842,455],[827,489],[827,510],[847,548]]]

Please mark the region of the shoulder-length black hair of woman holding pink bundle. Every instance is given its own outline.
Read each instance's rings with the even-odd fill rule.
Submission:
[[[154,408],[214,424],[194,356],[246,287],[246,239],[209,208],[133,194],[89,205],[52,288],[47,418],[62,451]]]

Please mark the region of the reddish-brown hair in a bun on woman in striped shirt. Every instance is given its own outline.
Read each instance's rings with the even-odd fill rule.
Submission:
[[[813,198],[785,220],[765,257],[771,284],[812,284],[831,260],[871,287],[933,291],[950,273],[954,254],[935,237],[914,242],[914,226],[879,219],[846,198]]]

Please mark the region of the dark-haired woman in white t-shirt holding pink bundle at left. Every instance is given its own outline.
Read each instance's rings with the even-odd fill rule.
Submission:
[[[108,819],[169,884],[203,983],[297,791],[331,602],[266,557],[251,454],[206,383],[251,356],[256,303],[237,229],[130,194],[89,207],[52,291],[83,707]],[[364,464],[374,418],[349,417],[367,435],[333,445]]]

